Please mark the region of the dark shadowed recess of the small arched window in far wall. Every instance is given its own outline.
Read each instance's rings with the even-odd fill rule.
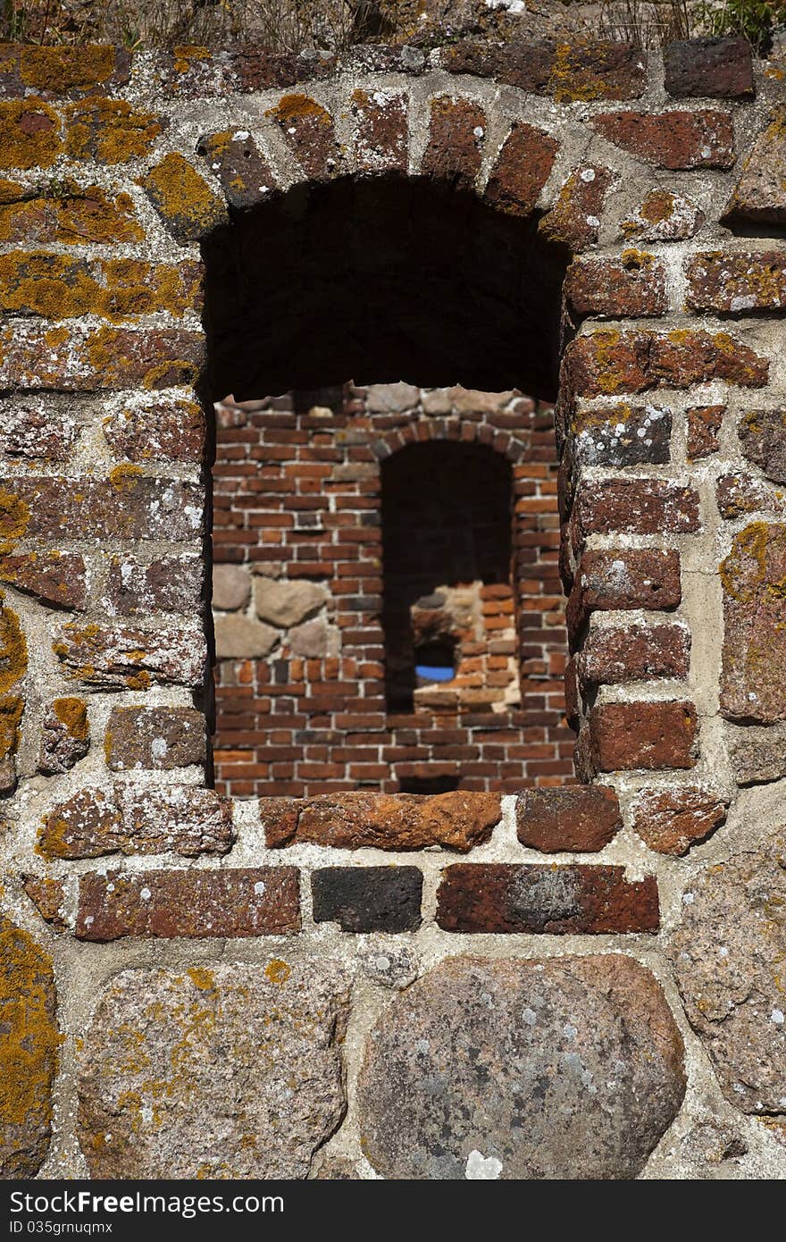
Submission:
[[[512,580],[513,473],[484,445],[409,445],[382,462],[382,630],[391,712],[410,712],[421,653],[454,666],[440,587]],[[416,605],[413,623],[412,607]],[[435,678],[436,679],[436,678]]]

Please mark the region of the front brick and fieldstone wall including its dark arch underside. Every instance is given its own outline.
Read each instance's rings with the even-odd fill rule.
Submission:
[[[784,81],[2,51],[6,1176],[784,1175]],[[227,375],[558,397],[584,784],[209,787]]]

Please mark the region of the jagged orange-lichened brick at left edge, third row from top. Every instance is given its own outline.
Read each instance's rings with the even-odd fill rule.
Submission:
[[[36,190],[0,183],[0,241],[77,246],[137,242],[143,237],[133,200],[124,191],[109,197],[98,185],[79,186],[72,180]]]

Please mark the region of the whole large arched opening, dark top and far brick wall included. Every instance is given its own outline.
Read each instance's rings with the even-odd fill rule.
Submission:
[[[296,188],[204,258],[217,787],[571,780],[560,256],[400,178]]]

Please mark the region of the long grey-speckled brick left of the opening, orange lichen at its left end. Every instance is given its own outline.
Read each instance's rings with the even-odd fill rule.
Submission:
[[[26,515],[25,535],[40,539],[197,539],[204,492],[195,483],[113,472],[108,481],[9,478],[6,494]]]

